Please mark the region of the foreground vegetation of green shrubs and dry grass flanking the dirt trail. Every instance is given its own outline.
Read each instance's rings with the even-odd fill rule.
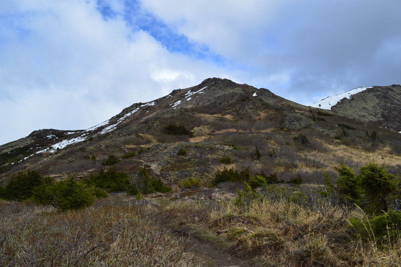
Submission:
[[[1,205],[0,262],[212,264],[172,234],[184,225],[255,265],[398,265],[400,178],[374,162],[357,173],[340,162],[335,171],[335,181],[326,175],[325,185],[313,186],[300,175],[285,182],[274,173],[223,168],[207,188],[186,179],[173,192],[146,168],[136,179],[111,167],[79,181],[20,172],[1,191],[9,201]],[[234,194],[230,183],[240,188]],[[156,213],[159,223],[149,223]]]

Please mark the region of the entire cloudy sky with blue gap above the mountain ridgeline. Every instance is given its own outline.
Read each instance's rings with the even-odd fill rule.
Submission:
[[[399,0],[1,0],[0,144],[209,77],[301,104],[401,83]]]

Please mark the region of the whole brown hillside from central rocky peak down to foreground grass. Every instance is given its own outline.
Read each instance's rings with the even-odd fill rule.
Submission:
[[[398,266],[400,137],[219,78],[37,130],[0,146],[0,265]]]

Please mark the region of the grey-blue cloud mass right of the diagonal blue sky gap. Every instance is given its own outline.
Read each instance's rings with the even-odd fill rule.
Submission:
[[[143,5],[178,33],[242,65],[241,80],[292,100],[306,103],[311,95],[399,83],[394,73],[401,67],[399,1],[147,0]],[[383,53],[386,57],[378,56]]]

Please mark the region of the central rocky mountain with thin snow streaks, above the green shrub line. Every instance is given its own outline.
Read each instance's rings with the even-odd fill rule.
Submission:
[[[364,92],[378,97],[370,90],[385,88],[399,90],[372,87],[352,99],[361,99]],[[118,170],[135,175],[138,167],[146,167],[169,184],[190,177],[207,183],[226,166],[221,162],[225,157],[231,159],[229,167],[276,172],[282,179],[298,173],[317,181],[322,172],[333,173],[340,159],[357,168],[369,152],[397,172],[399,133],[361,123],[359,116],[340,114],[334,106],[323,112],[264,88],[209,78],[151,102],[135,103],[85,130],[37,130],[2,145],[0,177],[6,183],[16,171],[36,169],[55,179],[83,178],[109,168],[105,160],[110,155],[119,159],[113,165]],[[261,157],[255,156],[256,148]],[[185,155],[178,154],[180,150]]]

